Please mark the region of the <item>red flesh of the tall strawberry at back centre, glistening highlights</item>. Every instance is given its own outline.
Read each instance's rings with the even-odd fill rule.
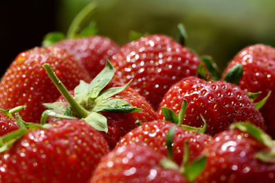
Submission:
[[[164,35],[144,36],[113,55],[111,63],[122,83],[137,90],[155,110],[167,90],[184,77],[197,75],[201,60],[186,47]]]

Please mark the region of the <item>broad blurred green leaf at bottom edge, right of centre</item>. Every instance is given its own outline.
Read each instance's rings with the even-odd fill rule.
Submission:
[[[193,182],[195,178],[205,169],[206,156],[202,156],[192,163],[188,163],[184,167],[184,176],[189,182]]]

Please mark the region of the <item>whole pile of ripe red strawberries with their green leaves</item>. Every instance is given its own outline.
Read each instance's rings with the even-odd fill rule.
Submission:
[[[275,182],[275,49],[217,66],[172,38],[19,53],[0,83],[0,182]]]

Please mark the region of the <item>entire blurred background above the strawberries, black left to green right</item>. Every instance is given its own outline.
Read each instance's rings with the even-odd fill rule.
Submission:
[[[221,70],[243,47],[275,47],[274,0],[94,0],[91,16],[98,34],[124,45],[129,31],[177,36],[177,23],[188,32],[186,46],[210,55]],[[18,53],[40,46],[48,32],[66,33],[74,16],[91,0],[1,2],[1,75]]]

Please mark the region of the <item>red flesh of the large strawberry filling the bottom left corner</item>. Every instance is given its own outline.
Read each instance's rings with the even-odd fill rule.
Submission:
[[[78,119],[63,119],[25,134],[0,154],[0,182],[87,182],[107,142]]]

